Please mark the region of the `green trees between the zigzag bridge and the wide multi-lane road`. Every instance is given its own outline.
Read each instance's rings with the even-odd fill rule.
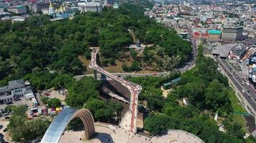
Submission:
[[[228,87],[227,78],[217,68],[213,59],[204,56],[203,46],[199,46],[196,66],[181,74],[180,84],[173,88],[167,99],[162,97],[160,86],[168,78],[129,77],[132,82],[142,85],[140,100],[146,101],[146,107],[151,111],[145,119],[145,129],[152,135],[164,134],[168,129],[182,129],[212,143],[254,141],[252,137],[244,139],[244,129],[232,119],[230,96],[234,93]],[[180,104],[183,97],[188,99],[187,106]],[[216,112],[226,117],[223,119],[226,132],[219,131],[213,119]]]

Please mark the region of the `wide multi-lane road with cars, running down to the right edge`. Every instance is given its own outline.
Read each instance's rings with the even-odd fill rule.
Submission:
[[[241,96],[239,99],[242,102],[244,108],[255,117],[256,114],[256,96],[253,89],[247,85],[246,81],[242,79],[239,73],[235,71],[232,66],[229,65],[227,59],[220,59],[218,56],[215,56],[216,61],[226,72],[228,78],[232,80],[232,83],[240,92]]]

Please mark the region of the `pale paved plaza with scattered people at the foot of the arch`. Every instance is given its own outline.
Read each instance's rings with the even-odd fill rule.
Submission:
[[[132,134],[126,129],[117,128],[111,125],[96,125],[96,135],[91,140],[84,140],[83,133],[65,132],[60,138],[60,143],[203,143],[201,139],[195,135],[180,130],[169,130],[168,134],[161,137],[144,137],[140,134]],[[80,140],[81,139],[81,140]]]

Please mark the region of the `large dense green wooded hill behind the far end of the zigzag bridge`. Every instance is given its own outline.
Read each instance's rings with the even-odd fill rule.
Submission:
[[[88,46],[100,46],[101,56],[111,59],[106,61],[113,64],[114,59],[125,58],[122,55],[129,51],[127,46],[132,44],[129,29],[143,43],[163,49],[158,59],[152,58],[159,66],[165,64],[161,58],[170,59],[165,69],[183,64],[191,52],[190,44],[144,16],[143,11],[140,6],[124,4],[119,9],[86,13],[72,20],[50,22],[47,16],[30,16],[14,24],[0,21],[0,80],[46,70],[82,74],[85,69],[78,55],[89,58]],[[134,60],[127,71],[140,69],[140,59]]]

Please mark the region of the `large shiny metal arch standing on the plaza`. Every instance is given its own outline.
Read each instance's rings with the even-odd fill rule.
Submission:
[[[45,132],[44,137],[42,137],[41,143],[58,143],[60,140],[65,127],[74,118],[80,118],[83,122],[85,128],[86,139],[90,139],[94,132],[94,120],[91,112],[88,109],[74,109],[67,108],[63,112],[60,112],[58,116],[52,121],[50,127]]]

